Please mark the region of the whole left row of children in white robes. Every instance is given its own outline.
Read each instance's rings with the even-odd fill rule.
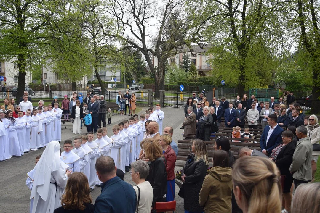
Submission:
[[[25,115],[19,111],[18,118],[12,117],[12,110],[0,110],[0,141],[4,141],[0,143],[0,161],[61,141],[62,112],[58,103],[54,108],[49,104],[43,109],[28,109]]]

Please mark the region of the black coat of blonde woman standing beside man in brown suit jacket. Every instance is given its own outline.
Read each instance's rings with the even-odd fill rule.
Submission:
[[[196,131],[196,138],[204,141],[210,141],[211,137],[211,126],[213,122],[213,117],[209,113],[208,116],[201,116],[198,121],[198,127]]]

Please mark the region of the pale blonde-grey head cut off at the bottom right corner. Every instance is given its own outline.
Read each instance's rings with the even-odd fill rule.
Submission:
[[[291,213],[320,212],[320,183],[301,184],[292,199]]]

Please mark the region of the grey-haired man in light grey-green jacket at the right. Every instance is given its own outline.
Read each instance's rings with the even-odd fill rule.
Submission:
[[[298,126],[296,135],[299,139],[296,149],[292,157],[290,172],[293,174],[294,186],[297,188],[301,183],[311,181],[311,159],[312,159],[312,144],[307,136],[307,128]]]

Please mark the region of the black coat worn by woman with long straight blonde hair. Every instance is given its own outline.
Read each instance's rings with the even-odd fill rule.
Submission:
[[[195,155],[188,155],[186,165],[182,173],[186,175],[184,182],[183,206],[187,211],[203,212],[199,205],[199,193],[207,174],[208,165],[203,160],[195,162]]]

